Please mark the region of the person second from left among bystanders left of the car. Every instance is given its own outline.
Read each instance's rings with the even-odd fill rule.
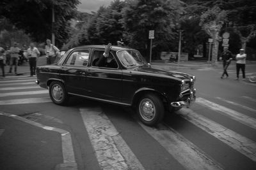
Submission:
[[[14,72],[17,74],[18,60],[20,48],[17,46],[16,42],[13,43],[13,46],[10,48],[11,60],[10,60],[10,71],[12,73],[12,67],[14,66]]]

